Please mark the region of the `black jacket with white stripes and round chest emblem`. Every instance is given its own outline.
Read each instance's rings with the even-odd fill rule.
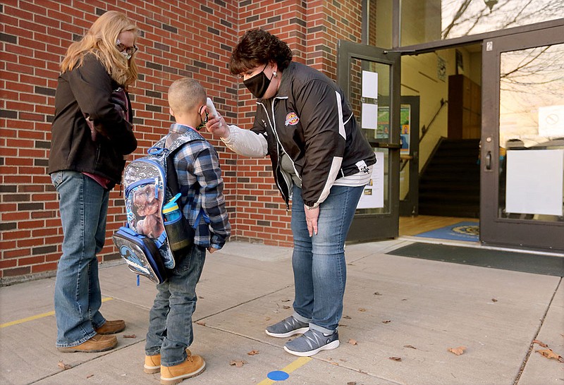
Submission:
[[[252,131],[266,137],[276,185],[286,205],[292,182],[281,169],[283,152],[302,180],[302,198],[308,206],[323,202],[337,178],[367,171],[376,163],[343,91],[323,73],[290,63],[271,102],[257,101]]]

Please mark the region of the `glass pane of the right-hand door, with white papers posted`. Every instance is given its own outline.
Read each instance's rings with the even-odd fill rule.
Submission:
[[[564,221],[564,44],[501,54],[498,216]]]

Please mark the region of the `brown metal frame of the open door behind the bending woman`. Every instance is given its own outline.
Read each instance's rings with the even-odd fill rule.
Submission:
[[[369,140],[374,148],[388,149],[388,205],[383,214],[355,214],[347,241],[367,242],[399,236],[400,181],[400,76],[401,55],[379,47],[340,40],[338,43],[337,82],[350,100],[350,61],[361,59],[389,66],[389,141]],[[386,167],[386,165],[384,165]]]

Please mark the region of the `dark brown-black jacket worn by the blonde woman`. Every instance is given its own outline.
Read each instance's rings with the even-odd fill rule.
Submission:
[[[137,140],[131,124],[133,112],[128,121],[111,101],[118,87],[93,54],[85,55],[82,66],[59,76],[48,173],[70,170],[121,182],[123,155],[135,151]],[[131,111],[129,97],[128,109]],[[92,140],[83,113],[94,121],[96,140]]]

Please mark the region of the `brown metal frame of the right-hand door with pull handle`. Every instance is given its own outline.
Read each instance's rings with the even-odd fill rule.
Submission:
[[[563,42],[564,23],[544,30],[485,39],[482,44],[480,241],[484,244],[564,250],[563,222],[498,217],[501,53]]]

